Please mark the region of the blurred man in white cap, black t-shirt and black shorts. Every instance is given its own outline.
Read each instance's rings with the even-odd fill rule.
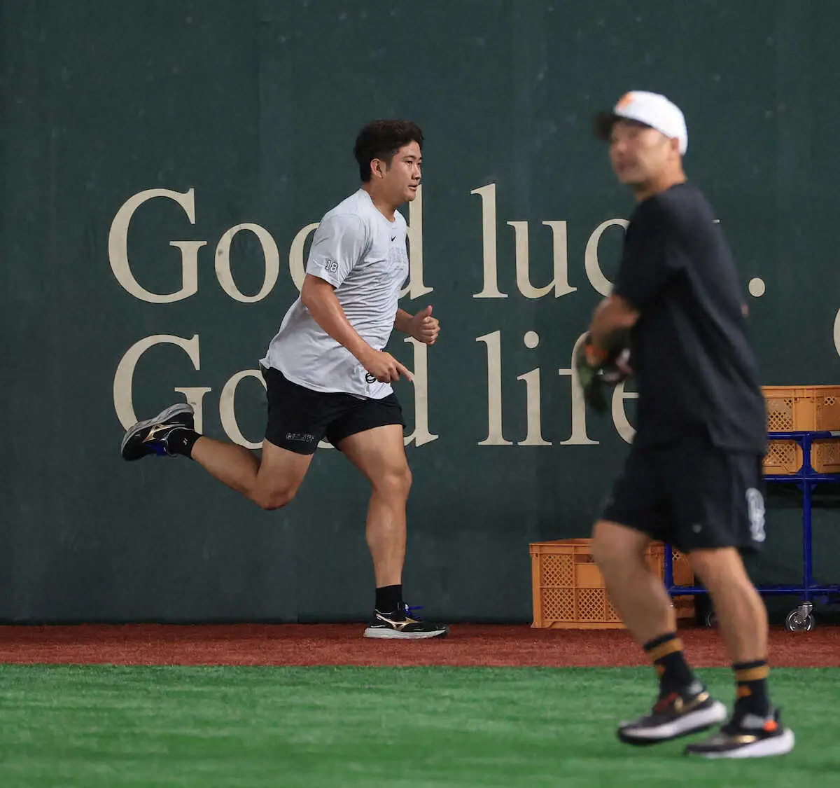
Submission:
[[[686,181],[685,118],[664,96],[630,92],[596,118],[612,168],[638,206],[612,295],[592,318],[585,376],[630,329],[638,432],[593,530],[592,552],[622,621],[659,673],[652,712],[618,728],[651,744],[724,722],[685,661],[675,612],[645,564],[651,538],[688,554],[711,595],[737,683],[734,711],[688,754],[751,758],[790,752],[794,735],[770,702],[767,612],[740,550],[764,542],[764,398],[745,334],[732,255],[711,208]]]

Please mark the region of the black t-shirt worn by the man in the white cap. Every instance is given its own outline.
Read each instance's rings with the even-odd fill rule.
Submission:
[[[709,203],[687,183],[638,205],[613,293],[638,309],[631,365],[637,445],[704,434],[764,454],[764,397],[745,334],[738,271]]]

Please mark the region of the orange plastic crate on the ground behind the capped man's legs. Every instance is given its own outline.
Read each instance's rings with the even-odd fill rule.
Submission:
[[[604,578],[590,553],[591,539],[535,542],[531,549],[533,627],[558,629],[623,629],[606,596]],[[664,544],[648,546],[648,565],[664,577]],[[674,551],[674,581],[694,583],[688,556]],[[678,618],[694,617],[694,596],[675,596]]]

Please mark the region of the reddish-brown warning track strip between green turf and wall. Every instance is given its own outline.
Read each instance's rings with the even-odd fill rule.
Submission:
[[[625,630],[580,631],[461,624],[449,638],[370,640],[362,624],[0,626],[0,663],[63,665],[646,665]],[[692,665],[728,660],[716,630],[680,628]],[[840,627],[771,628],[779,667],[840,667]]]

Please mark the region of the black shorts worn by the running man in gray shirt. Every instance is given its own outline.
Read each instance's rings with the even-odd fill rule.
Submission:
[[[381,400],[352,394],[312,391],[286,379],[280,370],[262,367],[268,397],[265,439],[296,454],[314,454],[318,441],[339,442],[355,433],[406,423],[393,393]]]

